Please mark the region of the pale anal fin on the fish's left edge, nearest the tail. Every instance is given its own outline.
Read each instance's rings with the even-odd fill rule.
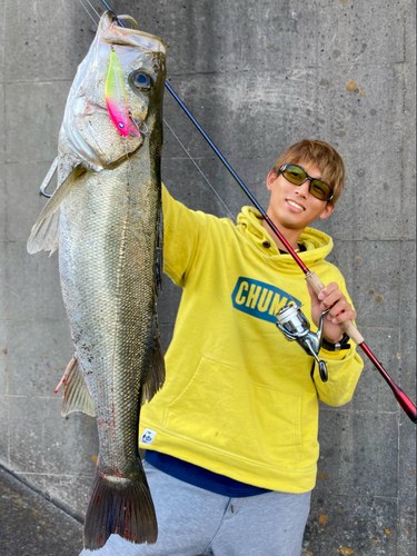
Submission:
[[[91,395],[81,376],[76,356],[72,356],[72,359],[68,364],[62,383],[63,405],[61,416],[64,417],[73,411],[82,411],[83,414],[91,415],[91,417],[96,417]],[[58,391],[58,388],[56,391]]]

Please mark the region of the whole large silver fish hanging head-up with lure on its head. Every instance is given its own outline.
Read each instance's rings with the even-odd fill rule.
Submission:
[[[85,546],[110,534],[155,543],[157,520],[138,450],[140,405],[165,379],[156,296],[161,272],[163,42],[106,12],[69,92],[58,188],[29,252],[59,245],[75,356],[63,414],[96,415],[99,456]]]

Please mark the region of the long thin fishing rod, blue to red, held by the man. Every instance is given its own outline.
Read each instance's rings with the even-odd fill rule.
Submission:
[[[110,10],[112,13],[113,10],[109,7],[106,0],[101,0],[102,3],[106,6],[108,10]],[[118,19],[116,16],[116,20],[121,27],[125,27],[121,21]],[[272,231],[276,234],[278,239],[281,241],[281,244],[286,247],[287,251],[294,260],[297,262],[297,265],[300,267],[302,272],[306,276],[307,282],[311,286],[312,290],[315,291],[316,295],[318,295],[324,288],[325,285],[320,280],[320,278],[316,275],[316,272],[309,270],[307,266],[302,262],[300,257],[296,254],[296,251],[292,249],[292,247],[289,245],[287,239],[282,236],[282,234],[279,231],[277,226],[272,222],[272,220],[269,218],[267,212],[264,210],[264,208],[259,205],[259,202],[256,200],[254,195],[250,192],[250,190],[247,188],[247,186],[242,182],[242,180],[239,178],[239,176],[236,173],[236,171],[232,169],[232,167],[229,165],[229,162],[226,160],[226,158],[222,156],[220,150],[216,147],[214,141],[210,139],[210,137],[206,133],[206,131],[202,129],[202,127],[199,125],[199,122],[196,120],[196,118],[192,116],[192,113],[189,111],[189,109],[186,107],[186,105],[182,102],[182,100],[179,98],[179,96],[175,92],[172,87],[168,83],[168,81],[165,81],[165,86],[168,89],[168,91],[171,93],[171,96],[175,98],[175,100],[178,102],[178,105],[181,107],[181,109],[186,112],[188,118],[192,121],[195,127],[198,129],[198,131],[201,133],[201,136],[206,139],[206,141],[209,143],[211,149],[215,151],[217,157],[221,160],[224,166],[227,168],[227,170],[231,173],[231,176],[235,178],[237,183],[240,186],[242,191],[246,193],[246,196],[250,199],[251,203],[259,210],[264,220],[269,225],[269,227],[272,229]],[[359,330],[356,328],[354,322],[351,320],[347,320],[346,322],[340,324],[340,328],[351,338],[355,344],[360,347],[360,349],[364,351],[364,354],[367,356],[367,358],[370,360],[370,363],[376,367],[376,369],[380,373],[383,378],[386,380],[390,389],[393,390],[393,394],[395,398],[397,399],[398,404],[401,406],[404,411],[407,414],[409,419],[414,423],[417,424],[417,407],[416,405],[410,400],[410,398],[407,396],[407,394],[396,385],[396,383],[393,380],[393,378],[388,375],[388,373],[385,370],[383,365],[378,361],[376,356],[373,354],[370,348],[366,345],[364,337],[359,332]]]

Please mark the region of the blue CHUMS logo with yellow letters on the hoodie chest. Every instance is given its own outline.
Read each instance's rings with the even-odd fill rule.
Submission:
[[[276,314],[284,305],[295,301],[301,306],[301,301],[287,291],[242,276],[236,282],[231,300],[235,309],[269,322],[277,321]]]

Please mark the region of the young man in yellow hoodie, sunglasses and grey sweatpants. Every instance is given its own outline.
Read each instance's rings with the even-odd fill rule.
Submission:
[[[287,149],[267,177],[268,216],[327,286],[317,297],[258,211],[235,226],[187,209],[163,190],[165,271],[183,288],[167,379],[140,419],[159,537],[111,536],[103,555],[299,556],[316,483],[318,399],[350,400],[363,363],[339,324],[354,319],[345,281],[325,260],[328,218],[344,187],[339,155],[321,141]],[[328,381],[275,326],[289,301],[324,325]]]

